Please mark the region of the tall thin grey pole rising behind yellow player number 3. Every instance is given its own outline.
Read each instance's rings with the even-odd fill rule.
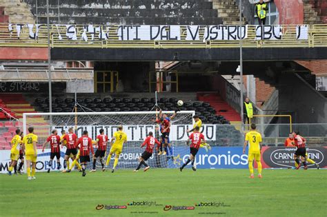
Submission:
[[[241,105],[241,126],[242,126],[242,130],[243,130],[243,124],[244,124],[244,110],[243,110],[243,56],[242,56],[242,1],[239,0],[239,28],[240,28],[240,39],[239,39],[239,80],[240,80],[240,94],[241,97],[239,98],[239,105]]]

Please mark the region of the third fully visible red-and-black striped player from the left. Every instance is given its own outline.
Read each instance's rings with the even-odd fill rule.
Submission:
[[[79,161],[81,161],[81,167],[83,170],[82,176],[86,176],[86,165],[90,162],[90,151],[92,155],[95,155],[95,151],[92,146],[92,138],[88,137],[88,131],[84,130],[83,136],[79,138],[75,147],[79,146]]]

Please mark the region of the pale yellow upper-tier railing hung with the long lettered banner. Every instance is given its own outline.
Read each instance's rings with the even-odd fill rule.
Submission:
[[[23,26],[19,37],[17,30],[12,24],[12,31],[8,30],[8,23],[0,24],[0,47],[44,47],[48,45],[47,27],[39,27],[37,39],[30,39],[29,29]],[[117,30],[119,25],[105,25],[107,40],[101,40],[96,33],[94,40],[85,41],[82,39],[83,28],[85,25],[75,25],[77,40],[71,40],[66,37],[66,25],[50,25],[50,45],[52,48],[239,48],[239,41],[219,41],[204,40],[205,26],[199,30],[199,40],[186,41],[187,28],[181,25],[178,41],[120,41]],[[98,25],[95,25],[98,26]],[[100,25],[99,25],[100,26]],[[248,25],[248,37],[243,39],[244,48],[314,48],[327,47],[327,25],[315,24],[309,25],[308,39],[297,40],[297,25],[281,25],[282,37],[280,40],[255,40],[256,25]],[[107,31],[108,30],[108,31]],[[33,27],[35,32],[35,26]],[[92,36],[86,32],[88,39]]]

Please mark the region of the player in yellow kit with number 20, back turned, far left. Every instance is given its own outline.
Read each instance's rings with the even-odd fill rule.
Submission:
[[[34,134],[34,127],[28,127],[28,132],[29,134],[23,137],[23,150],[25,150],[28,180],[32,180],[35,179],[35,165],[37,164],[37,135]]]

